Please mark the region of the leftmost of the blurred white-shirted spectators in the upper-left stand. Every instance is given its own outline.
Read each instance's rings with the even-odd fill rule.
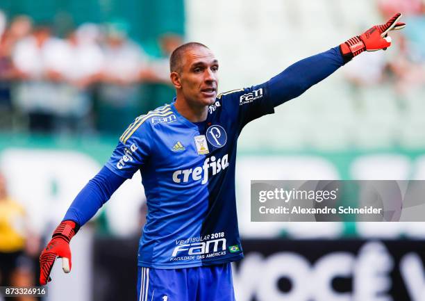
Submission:
[[[42,25],[20,40],[13,51],[13,63],[22,80],[16,90],[17,105],[28,114],[33,131],[52,131],[56,115],[66,110],[60,86],[68,63],[66,49],[66,43],[53,38],[49,26]]]

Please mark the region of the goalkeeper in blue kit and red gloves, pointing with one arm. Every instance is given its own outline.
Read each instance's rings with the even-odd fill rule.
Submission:
[[[147,223],[138,251],[138,300],[235,300],[232,261],[242,259],[235,206],[235,155],[243,127],[363,51],[390,47],[401,14],[338,47],[300,60],[269,81],[217,95],[219,63],[203,44],[170,58],[176,98],[137,117],[113,155],[69,207],[40,256],[40,284],[56,258],[71,270],[69,242],[126,179],[140,170]],[[284,129],[283,129],[284,130]]]

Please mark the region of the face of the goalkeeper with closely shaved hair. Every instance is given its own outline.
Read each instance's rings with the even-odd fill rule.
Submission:
[[[192,106],[210,106],[217,97],[218,61],[205,47],[185,51],[179,78],[183,95]]]

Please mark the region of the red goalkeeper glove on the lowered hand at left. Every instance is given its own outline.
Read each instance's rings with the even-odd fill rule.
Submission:
[[[40,255],[40,284],[45,285],[47,282],[51,282],[51,268],[58,257],[62,258],[63,271],[71,271],[69,241],[76,234],[78,228],[78,225],[72,220],[65,220],[53,232],[51,241]]]

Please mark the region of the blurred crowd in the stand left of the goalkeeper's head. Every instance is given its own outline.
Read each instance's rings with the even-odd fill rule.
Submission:
[[[4,130],[119,133],[140,112],[169,99],[143,98],[142,83],[169,85],[176,34],[153,58],[128,37],[128,24],[81,24],[63,38],[49,23],[0,11],[0,126]]]

